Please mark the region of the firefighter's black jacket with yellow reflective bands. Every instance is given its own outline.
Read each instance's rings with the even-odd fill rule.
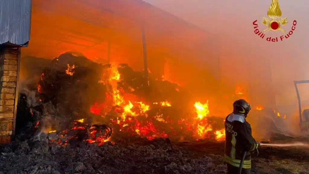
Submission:
[[[247,151],[243,168],[251,168],[250,151],[256,149],[251,125],[243,115],[231,113],[225,119],[225,162],[239,167],[243,153]]]

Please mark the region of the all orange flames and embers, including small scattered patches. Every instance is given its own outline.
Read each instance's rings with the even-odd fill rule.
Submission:
[[[73,76],[74,68],[75,65],[68,64],[66,74]],[[177,111],[173,110],[177,107],[173,106],[171,101],[153,102],[133,94],[138,90],[137,87],[134,89],[125,84],[123,75],[119,72],[119,66],[111,66],[104,70],[101,80],[98,81],[107,88],[106,98],[104,102],[95,102],[90,107],[90,112],[102,118],[104,124],[91,125],[84,119],[74,120],[69,129],[49,130],[49,134],[53,135],[51,140],[64,146],[68,144],[68,141],[77,139],[75,135],[78,133],[87,134],[88,137],[84,141],[98,145],[118,135],[144,137],[148,140],[167,137],[180,141],[206,138],[216,141],[225,140],[224,119],[211,121],[208,100],[192,102],[192,105],[189,104],[191,111],[187,114],[177,114]],[[44,74],[41,75],[41,80],[43,79]],[[160,80],[163,81],[163,79]],[[126,89],[122,88],[124,85]],[[37,90],[41,92],[40,84]],[[175,91],[179,92],[178,87]],[[235,92],[239,95],[245,94],[245,90],[240,88],[237,88]],[[255,107],[255,110],[263,109],[261,105]],[[280,117],[280,113],[277,113],[277,116]],[[214,126],[215,123],[222,125],[221,128]],[[70,133],[71,131],[74,133]]]

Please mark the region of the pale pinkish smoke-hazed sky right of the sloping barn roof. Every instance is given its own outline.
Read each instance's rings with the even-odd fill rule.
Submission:
[[[279,0],[282,17],[286,17],[288,23],[281,28],[287,34],[296,20],[294,33],[283,41],[269,42],[266,37],[280,37],[283,33],[267,32],[264,39],[254,33],[253,21],[258,20],[260,30],[267,28],[262,22],[262,17],[268,17],[267,11],[271,0],[247,1],[247,0],[144,0],[164,11],[167,11],[189,23],[192,23],[205,31],[220,37],[235,39],[251,47],[250,54],[269,55],[271,63],[274,89],[281,91],[277,94],[277,101],[296,102],[293,80],[309,80],[309,65],[307,49],[308,27],[306,16],[309,16],[309,1]],[[307,26],[306,26],[307,25]],[[223,38],[223,39],[222,39]],[[280,39],[280,38],[279,38]],[[250,55],[248,55],[250,59]],[[260,71],[263,71],[261,69]],[[308,88],[308,86],[303,86]],[[284,89],[284,90],[279,90]],[[301,94],[308,97],[309,93]],[[279,92],[278,92],[279,93]],[[279,98],[279,99],[278,99]],[[278,102],[280,103],[280,102]]]

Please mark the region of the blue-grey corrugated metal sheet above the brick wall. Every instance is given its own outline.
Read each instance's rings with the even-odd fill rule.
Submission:
[[[31,5],[31,0],[0,0],[0,44],[27,45]]]

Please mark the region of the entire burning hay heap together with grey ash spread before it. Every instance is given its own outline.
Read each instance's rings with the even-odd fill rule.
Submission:
[[[84,61],[61,55],[21,92],[17,117],[29,116],[2,150],[3,172],[225,172],[215,167],[221,157],[195,156],[171,143],[222,138],[208,120],[207,102],[189,104],[188,91],[151,74],[145,85],[143,72],[126,64],[83,67]],[[32,89],[36,94],[29,95]]]

